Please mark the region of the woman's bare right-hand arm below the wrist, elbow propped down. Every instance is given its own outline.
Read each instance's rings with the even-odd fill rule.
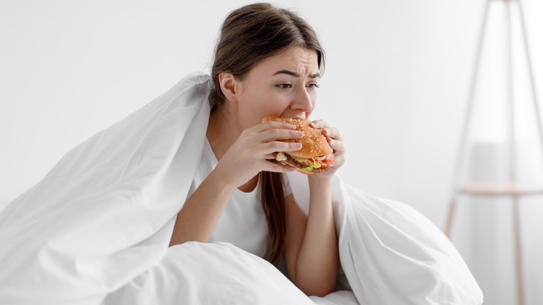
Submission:
[[[313,177],[310,177],[313,178]],[[285,263],[290,280],[306,295],[333,292],[338,274],[338,241],[331,204],[331,178],[310,179],[306,216],[290,194],[287,197]]]

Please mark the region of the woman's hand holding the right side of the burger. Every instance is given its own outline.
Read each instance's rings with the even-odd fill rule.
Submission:
[[[322,173],[310,175],[309,178],[331,178],[333,173],[336,173],[338,169],[345,163],[345,144],[340,132],[334,127],[331,127],[329,123],[324,120],[314,120],[309,124],[311,127],[322,130],[322,135],[326,136],[326,140],[333,149],[333,154],[336,157],[336,161],[329,169]]]

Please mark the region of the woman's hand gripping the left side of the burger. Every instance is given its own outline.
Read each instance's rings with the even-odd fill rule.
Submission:
[[[221,173],[231,187],[240,187],[260,171],[286,173],[294,171],[290,165],[270,162],[272,154],[301,149],[301,143],[278,140],[301,139],[296,126],[283,122],[266,122],[244,130],[221,157],[215,171]]]

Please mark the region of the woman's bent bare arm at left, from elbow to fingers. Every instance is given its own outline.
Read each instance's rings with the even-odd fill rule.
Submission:
[[[301,148],[300,143],[278,141],[301,138],[303,134],[295,129],[287,123],[267,122],[244,130],[178,213],[170,246],[207,242],[233,191],[260,171],[293,171],[292,166],[272,163],[267,158],[276,151]]]

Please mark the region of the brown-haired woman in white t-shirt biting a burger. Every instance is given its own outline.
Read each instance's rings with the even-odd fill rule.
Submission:
[[[317,36],[294,13],[258,3],[228,15],[212,68],[212,114],[198,166],[205,178],[195,178],[171,245],[228,241],[264,256],[269,232],[269,260],[277,264],[283,256],[296,286],[306,295],[333,291],[338,241],[331,185],[333,173],[345,162],[340,134],[323,120],[312,124],[323,129],[336,162],[329,171],[308,177],[306,216],[281,177],[292,166],[268,160],[274,152],[301,149],[300,143],[278,140],[303,134],[287,123],[260,123],[265,116],[309,118],[322,70],[324,51]],[[266,220],[267,228],[262,226]]]

